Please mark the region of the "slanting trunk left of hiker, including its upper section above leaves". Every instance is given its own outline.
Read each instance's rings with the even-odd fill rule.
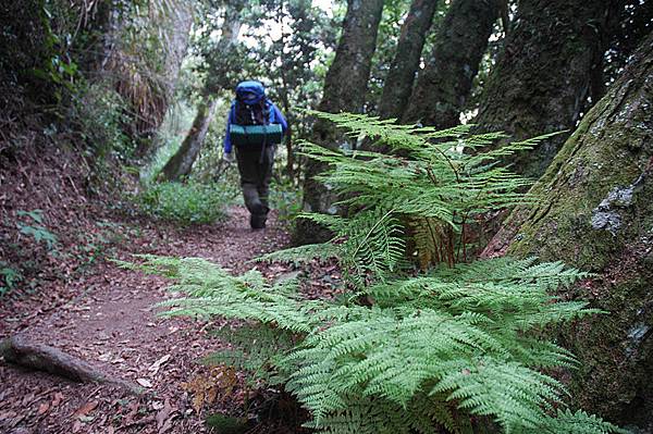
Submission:
[[[237,2],[237,4],[227,8],[225,11],[224,23],[221,29],[222,35],[217,47],[218,52],[227,53],[237,42],[243,25],[241,20],[242,9],[243,4]],[[193,121],[193,127],[188,131],[188,135],[184,138],[176,153],[163,166],[162,173],[167,181],[180,181],[189,175],[193,164],[197,156],[199,156],[209,126],[215,114],[217,100],[213,99],[212,94],[215,92],[215,87],[222,83],[222,77],[215,75],[220,74],[214,74],[205,80],[202,97],[195,120]]]

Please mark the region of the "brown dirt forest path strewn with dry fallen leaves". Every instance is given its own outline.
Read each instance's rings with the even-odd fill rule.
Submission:
[[[288,243],[274,215],[268,228],[251,231],[242,207],[231,208],[229,220],[215,225],[185,230],[149,225],[140,231],[140,236],[118,247],[116,258],[132,260],[133,253],[201,257],[241,273],[252,266],[250,259]],[[270,270],[264,274],[270,275]],[[198,394],[185,390],[183,383],[212,384],[202,382],[210,370],[197,359],[220,344],[208,335],[206,322],[156,317],[155,305],[171,297],[165,290],[169,284],[103,261],[63,288],[74,298],[62,306],[22,312],[19,303],[14,311],[3,311],[0,336],[21,333],[111,375],[138,382],[147,393],[134,397],[110,385],[76,384],[0,363],[0,432],[206,432],[206,408],[197,413],[193,399]],[[201,405],[202,399],[197,399]],[[211,409],[221,405],[233,408],[235,402],[217,401]]]

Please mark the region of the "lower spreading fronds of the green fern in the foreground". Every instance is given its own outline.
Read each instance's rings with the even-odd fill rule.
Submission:
[[[546,411],[566,392],[539,369],[577,361],[540,331],[595,313],[547,295],[583,276],[559,263],[441,268],[371,285],[374,305],[362,307],[305,300],[295,282],[269,285],[258,271],[235,277],[202,259],[144,259],[140,268],[187,295],[163,303],[165,315],[247,321],[221,331],[234,349],[207,361],[285,384],[321,431],[471,432],[481,416],[513,433],[574,432],[589,419],[588,432],[619,432],[582,412],[555,419]]]

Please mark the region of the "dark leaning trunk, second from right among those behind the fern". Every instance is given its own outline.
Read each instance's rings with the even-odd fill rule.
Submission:
[[[429,63],[417,84],[403,122],[447,128],[460,112],[488,48],[501,0],[454,0],[438,35]]]

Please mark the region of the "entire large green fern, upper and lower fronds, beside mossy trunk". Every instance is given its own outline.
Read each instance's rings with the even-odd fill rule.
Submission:
[[[232,276],[202,259],[145,256],[126,264],[174,280],[184,297],[164,302],[163,315],[244,320],[217,332],[231,347],[209,362],[291,393],[310,412],[306,425],[320,432],[623,432],[571,411],[565,386],[543,372],[579,365],[544,332],[600,313],[551,295],[588,275],[535,259],[465,263],[470,221],[537,200],[518,193],[527,181],[495,162],[542,138],[471,153],[502,136],[317,115],[403,156],[304,146],[332,168],[321,179],[350,215],[303,215],[333,239],[262,260],[335,257],[345,297],[309,300],[293,280],[270,284],[256,270]]]

